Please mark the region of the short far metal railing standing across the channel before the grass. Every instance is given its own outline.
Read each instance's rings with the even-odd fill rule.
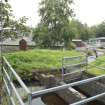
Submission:
[[[67,75],[84,71],[84,67],[86,67],[87,63],[88,62],[86,56],[62,58],[62,80],[64,80],[64,77]]]

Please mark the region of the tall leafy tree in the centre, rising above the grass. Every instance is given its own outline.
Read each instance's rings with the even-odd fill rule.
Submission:
[[[66,43],[69,43],[72,39],[72,35],[69,31],[69,19],[74,16],[73,10],[70,7],[72,3],[72,0],[41,1],[39,9],[41,22],[36,29],[37,31],[35,31],[36,33],[34,34],[39,36],[38,40],[40,40],[41,36],[41,42],[45,47],[52,47],[62,43],[66,45]],[[42,36],[43,29],[44,32]]]

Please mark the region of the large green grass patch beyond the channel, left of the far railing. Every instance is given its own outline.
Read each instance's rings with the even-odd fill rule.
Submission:
[[[29,50],[6,54],[12,67],[18,71],[51,70],[61,68],[63,57],[78,56],[76,51]]]

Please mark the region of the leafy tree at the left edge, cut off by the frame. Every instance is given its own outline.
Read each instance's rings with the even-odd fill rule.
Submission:
[[[15,20],[10,4],[7,2],[0,2],[1,40],[8,37],[16,38],[29,35],[30,28],[26,26],[27,20],[28,18],[26,18],[25,16],[20,18],[19,20]]]

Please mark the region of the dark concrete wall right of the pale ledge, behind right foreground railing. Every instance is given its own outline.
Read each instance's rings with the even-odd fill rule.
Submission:
[[[76,88],[89,97],[95,96],[105,92],[105,81],[104,80],[94,81],[77,86]],[[98,98],[97,100],[105,103],[105,97]]]

